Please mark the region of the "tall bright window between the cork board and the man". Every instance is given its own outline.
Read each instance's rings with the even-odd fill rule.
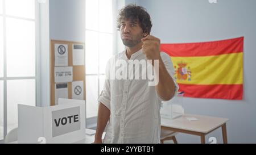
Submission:
[[[113,55],[113,0],[85,2],[86,118],[95,118],[98,96],[105,81],[105,68]]]

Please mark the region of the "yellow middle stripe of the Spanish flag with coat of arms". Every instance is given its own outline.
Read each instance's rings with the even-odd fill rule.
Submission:
[[[218,56],[171,57],[171,60],[175,70],[184,70],[183,73],[187,74],[183,79],[177,78],[177,83],[192,85],[230,85],[243,83],[242,52]],[[179,64],[185,64],[185,67],[181,69]],[[177,74],[175,74],[175,77],[177,77]]]

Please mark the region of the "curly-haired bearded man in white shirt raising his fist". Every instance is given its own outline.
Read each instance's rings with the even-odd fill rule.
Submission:
[[[150,15],[141,6],[128,5],[118,15],[118,30],[126,51],[114,60],[158,60],[159,81],[149,86],[147,80],[110,79],[113,58],[106,69],[104,89],[98,99],[97,129],[94,143],[160,143],[160,104],[170,100],[178,89],[170,57],[159,51],[160,40],[150,35]],[[114,62],[115,63],[115,62]]]

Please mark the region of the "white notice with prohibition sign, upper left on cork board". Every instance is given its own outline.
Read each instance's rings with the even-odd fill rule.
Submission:
[[[55,44],[55,66],[68,66],[67,44]]]

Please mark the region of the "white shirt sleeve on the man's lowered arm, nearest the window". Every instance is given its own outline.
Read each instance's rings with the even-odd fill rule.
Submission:
[[[104,83],[103,90],[101,91],[100,97],[98,98],[98,102],[104,104],[110,110],[110,65],[109,62],[106,65],[106,79]]]

